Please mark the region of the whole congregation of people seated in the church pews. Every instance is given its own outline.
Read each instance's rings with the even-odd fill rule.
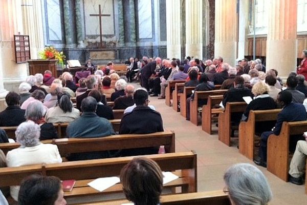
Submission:
[[[190,120],[190,102],[194,92],[210,91],[215,87],[227,90],[217,107],[229,102],[243,102],[250,97],[246,111],[232,116],[232,124],[247,121],[250,110],[282,108],[276,123],[256,127],[260,133],[260,147],[254,162],[267,166],[267,143],[271,134],[278,135],[284,121],[307,120],[307,50],[297,72],[291,72],[286,80],[278,77],[275,69],[266,68],[261,59],[239,60],[231,67],[223,57],[161,59],[143,57],[142,62],[131,57],[126,75],[118,75],[109,63],[104,69],[84,71],[73,75],[69,70],[53,76],[49,70],[27,77],[19,85],[19,94],[9,92],[5,98],[7,108],[0,113],[0,127],[18,126],[15,132],[20,147],[2,157],[7,167],[33,165],[35,163],[60,163],[62,158],[56,145],[43,144],[40,140],[58,138],[53,124],[68,123],[68,138],[97,138],[117,134],[109,120],[114,110],[124,110],[118,134],[149,134],[164,131],[161,114],[150,104],[148,96],[165,99],[169,81],[181,80],[185,87],[195,87],[186,100],[186,119]],[[92,63],[89,63],[92,67]],[[140,81],[142,88],[131,84]],[[72,98],[76,98],[76,104]],[[108,106],[112,101],[113,106]],[[207,104],[199,99],[199,106]],[[218,125],[216,125],[218,126]],[[0,130],[0,142],[11,139]],[[291,137],[293,152],[289,176],[290,182],[302,185],[306,156],[307,136]],[[116,151],[74,153],[65,160],[90,160],[119,156],[158,154],[159,147],[147,147]],[[4,155],[3,153],[0,153]],[[163,175],[158,164],[145,157],[136,157],[121,171],[120,180],[126,198],[135,204],[160,204]],[[225,175],[225,193],[232,204],[268,204],[272,192],[264,174],[255,166],[238,164]],[[30,190],[36,190],[31,192]],[[30,176],[19,186],[10,189],[10,195],[19,204],[66,204],[61,182],[57,177]],[[1,194],[0,202],[8,204]]]

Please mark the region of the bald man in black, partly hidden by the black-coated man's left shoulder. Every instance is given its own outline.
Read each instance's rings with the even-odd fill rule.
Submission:
[[[123,110],[127,107],[134,105],[133,94],[135,91],[135,87],[133,85],[128,84],[125,88],[125,96],[121,96],[116,98],[114,101],[113,110]]]

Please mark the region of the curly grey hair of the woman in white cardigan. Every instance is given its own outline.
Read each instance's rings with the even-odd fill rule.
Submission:
[[[40,127],[31,120],[23,122],[17,127],[15,136],[22,147],[37,145],[39,143]]]

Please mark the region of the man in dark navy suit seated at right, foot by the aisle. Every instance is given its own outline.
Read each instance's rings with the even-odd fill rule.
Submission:
[[[277,104],[283,109],[277,116],[277,121],[273,131],[261,134],[259,154],[254,160],[256,165],[262,167],[267,167],[267,144],[269,136],[271,134],[279,135],[282,122],[284,121],[301,121],[306,120],[307,118],[305,107],[302,104],[292,103],[292,94],[287,90],[278,93]],[[290,138],[290,151],[295,150],[296,142],[300,139],[302,139],[302,136],[292,136]]]

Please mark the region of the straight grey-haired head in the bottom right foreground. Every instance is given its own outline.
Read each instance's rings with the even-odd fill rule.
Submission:
[[[230,167],[224,174],[226,187],[232,205],[266,205],[272,199],[267,178],[262,172],[248,163]]]

